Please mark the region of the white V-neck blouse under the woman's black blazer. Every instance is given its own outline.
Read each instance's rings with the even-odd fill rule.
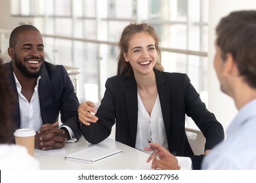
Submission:
[[[165,133],[165,126],[163,124],[163,115],[161,114],[161,105],[159,96],[156,97],[154,107],[151,112],[151,116],[146,111],[142,100],[138,95],[138,126],[137,126],[137,138],[135,148],[151,154],[151,152],[143,150],[144,147],[148,147],[148,138],[151,138],[153,142],[161,144],[168,149],[167,138]]]

